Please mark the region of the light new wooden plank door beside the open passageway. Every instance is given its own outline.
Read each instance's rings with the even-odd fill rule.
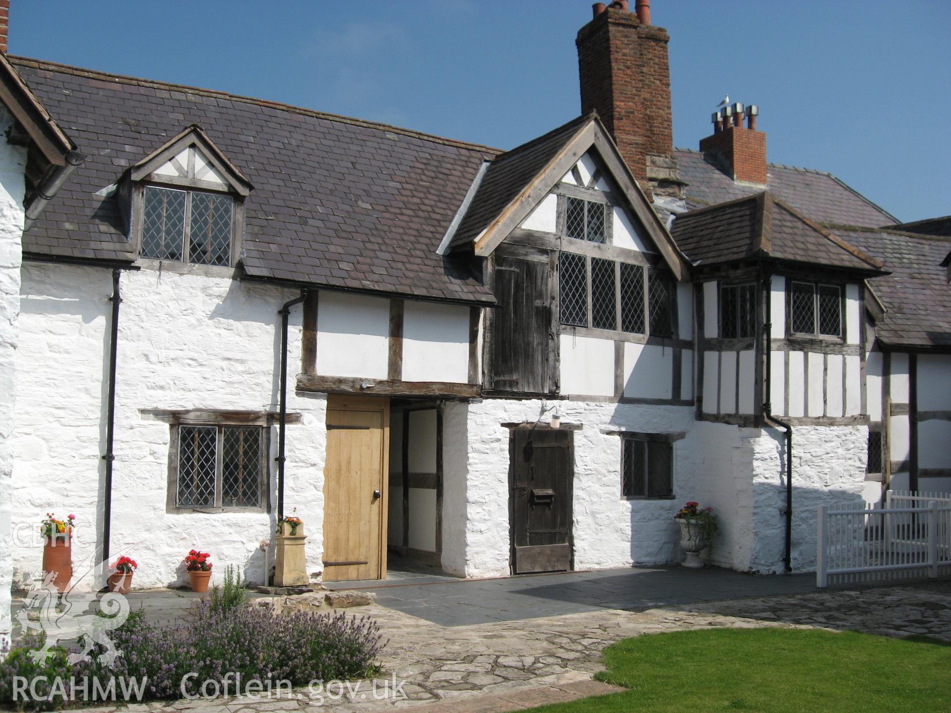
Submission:
[[[327,410],[323,471],[323,579],[327,582],[385,576],[386,408]]]

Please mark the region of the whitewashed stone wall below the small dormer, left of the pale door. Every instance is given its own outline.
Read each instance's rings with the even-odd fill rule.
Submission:
[[[111,273],[52,264],[22,271],[21,349],[17,357],[13,527],[34,532],[47,511],[77,516],[74,568],[101,551]],[[262,539],[276,525],[277,428],[271,429],[268,513],[165,511],[169,426],[145,409],[276,410],[281,329],[278,310],[292,290],[165,270],[122,277],[116,375],[111,558],[139,563],[135,586],[186,582],[188,549],[211,552],[216,579],[231,564],[262,580]],[[294,393],[300,364],[301,308],[290,317],[285,511],[304,520],[307,566],[321,566],[325,405]],[[40,568],[41,549],[14,552],[16,568]]]

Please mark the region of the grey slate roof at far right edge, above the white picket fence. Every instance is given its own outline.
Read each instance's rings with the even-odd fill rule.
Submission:
[[[951,288],[941,259],[951,240],[890,230],[835,231],[883,260],[891,275],[869,280],[886,312],[876,337],[900,347],[951,346]]]

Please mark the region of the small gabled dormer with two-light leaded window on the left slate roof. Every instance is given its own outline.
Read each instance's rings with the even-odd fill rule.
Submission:
[[[191,125],[132,165],[119,186],[139,260],[233,267],[251,183]]]

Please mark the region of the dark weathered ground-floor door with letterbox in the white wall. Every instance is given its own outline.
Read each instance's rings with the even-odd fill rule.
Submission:
[[[571,569],[573,432],[519,426],[509,448],[514,572]]]

